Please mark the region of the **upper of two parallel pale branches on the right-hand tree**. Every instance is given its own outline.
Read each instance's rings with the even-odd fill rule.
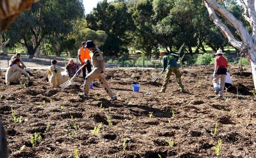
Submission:
[[[213,0],[204,0],[204,3],[206,4],[206,6],[208,6],[207,7],[208,12],[209,12],[209,9],[214,9],[217,13],[220,14],[220,16],[224,17],[224,19],[226,19],[226,21],[237,30],[237,33],[239,33],[239,36],[241,37],[243,43],[252,45],[252,40],[248,38],[250,37],[249,32],[243,26],[242,22],[240,22],[236,17],[234,17],[233,14],[231,14],[227,9],[225,9],[223,6],[221,6],[220,4],[216,3]],[[213,10],[210,10],[210,12],[213,12]],[[222,25],[224,26],[224,24]],[[221,30],[225,31],[224,28]],[[230,42],[234,42],[234,39],[232,41],[231,39],[233,38],[229,38]],[[237,42],[235,42],[234,44],[236,44],[234,47],[238,46]]]

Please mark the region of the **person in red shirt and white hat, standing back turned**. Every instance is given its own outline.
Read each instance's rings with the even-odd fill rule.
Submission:
[[[217,50],[216,55],[215,69],[213,73],[213,86],[215,94],[219,94],[219,97],[223,97],[228,65],[227,60],[223,57],[222,50]]]

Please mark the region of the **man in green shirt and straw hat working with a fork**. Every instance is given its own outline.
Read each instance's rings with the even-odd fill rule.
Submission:
[[[167,69],[167,72],[165,74],[164,84],[161,90],[158,92],[165,92],[165,89],[167,87],[167,84],[169,83],[169,79],[172,72],[175,74],[175,78],[178,82],[178,85],[180,86],[180,92],[186,92],[181,83],[181,79],[180,79],[181,75],[180,75],[180,71],[178,69],[178,64],[177,64],[179,56],[172,53],[168,53],[167,50],[163,50],[160,53],[160,56],[163,56],[163,63],[164,63],[163,70],[160,73],[163,73],[165,69]]]

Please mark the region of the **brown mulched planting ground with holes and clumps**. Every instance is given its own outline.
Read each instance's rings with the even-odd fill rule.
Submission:
[[[32,70],[31,82],[22,78],[28,86],[24,88],[5,85],[5,70],[0,70],[0,116],[8,134],[9,156],[70,158],[78,149],[80,158],[216,157],[213,147],[220,139],[221,157],[256,157],[256,100],[252,74],[246,69],[229,68],[233,86],[224,98],[214,94],[210,66],[180,69],[187,93],[179,91],[173,75],[166,93],[157,93],[164,76],[155,83],[150,78],[160,69],[108,69],[107,81],[118,96],[114,103],[98,80],[84,100],[77,95],[82,92],[82,77],[62,90],[49,86],[46,70]],[[132,92],[133,83],[140,83],[140,92]],[[11,106],[17,117],[23,117],[22,123],[13,122]],[[99,133],[92,134],[100,122]],[[216,123],[217,134],[212,135]],[[30,135],[35,132],[42,140],[32,148]],[[169,141],[174,141],[173,147]]]

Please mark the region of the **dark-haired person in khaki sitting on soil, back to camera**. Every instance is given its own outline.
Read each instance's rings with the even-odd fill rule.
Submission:
[[[48,80],[51,86],[58,87],[68,80],[66,72],[61,72],[61,67],[57,65],[56,60],[52,60],[52,65],[48,68]]]

